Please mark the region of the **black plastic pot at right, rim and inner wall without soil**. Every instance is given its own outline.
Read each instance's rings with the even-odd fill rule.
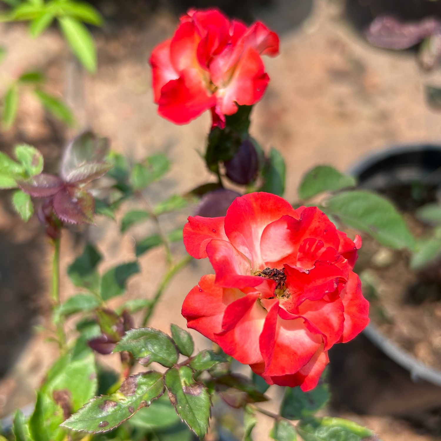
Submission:
[[[424,182],[434,194],[441,188],[441,144],[394,146],[355,164],[349,173],[359,186],[387,194],[388,188],[412,182]],[[434,369],[397,346],[374,324],[364,331],[366,337],[395,363],[408,370],[412,380],[426,380],[441,386],[441,370]]]

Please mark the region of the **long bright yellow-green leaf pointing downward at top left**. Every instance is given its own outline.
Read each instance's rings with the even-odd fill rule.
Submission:
[[[90,73],[95,73],[97,70],[97,51],[89,30],[71,17],[60,17],[58,20],[72,51]]]

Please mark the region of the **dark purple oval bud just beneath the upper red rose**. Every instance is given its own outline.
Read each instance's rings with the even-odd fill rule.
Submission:
[[[259,159],[250,139],[242,142],[235,156],[225,163],[226,175],[236,184],[246,185],[256,179]]]

